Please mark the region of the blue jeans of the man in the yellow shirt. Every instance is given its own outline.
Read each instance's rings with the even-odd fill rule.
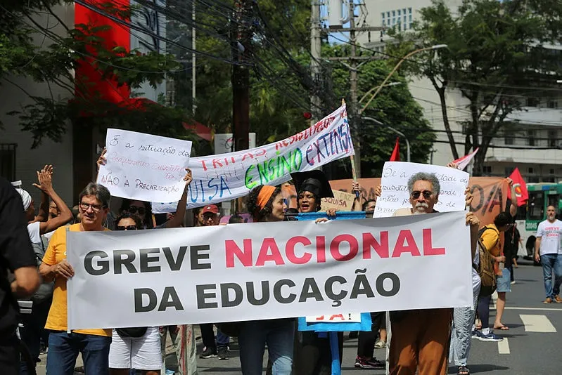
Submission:
[[[86,374],[109,374],[111,338],[87,334],[51,331],[47,352],[47,374],[72,375],[78,353],[82,353]]]

